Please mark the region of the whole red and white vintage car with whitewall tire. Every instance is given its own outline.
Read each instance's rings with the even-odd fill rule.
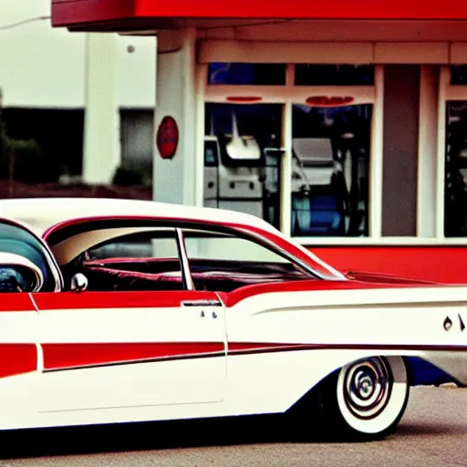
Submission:
[[[467,383],[467,286],[349,276],[218,209],[3,200],[0,218],[0,429],[293,413],[370,439],[417,362]]]

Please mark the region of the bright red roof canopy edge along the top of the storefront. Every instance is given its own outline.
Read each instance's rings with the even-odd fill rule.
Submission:
[[[52,0],[52,23],[79,31],[276,19],[467,19],[467,0]]]

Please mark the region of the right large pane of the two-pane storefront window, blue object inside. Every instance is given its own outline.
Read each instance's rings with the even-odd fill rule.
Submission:
[[[293,235],[368,235],[371,109],[293,106]]]

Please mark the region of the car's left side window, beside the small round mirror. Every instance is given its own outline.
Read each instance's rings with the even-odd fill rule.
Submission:
[[[78,270],[91,291],[182,290],[174,229],[130,233],[88,248]]]

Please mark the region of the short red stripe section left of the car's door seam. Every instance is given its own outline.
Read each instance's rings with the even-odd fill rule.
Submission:
[[[0,344],[0,378],[37,369],[36,344]]]

